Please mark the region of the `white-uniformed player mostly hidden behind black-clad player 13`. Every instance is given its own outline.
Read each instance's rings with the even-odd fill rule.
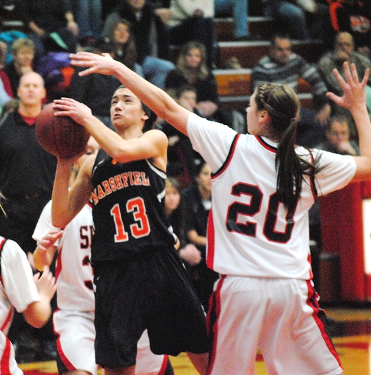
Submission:
[[[88,155],[97,154],[99,144],[89,138],[87,152],[74,167],[80,168]],[[97,375],[95,363],[95,299],[93,272],[89,261],[94,234],[91,204],[87,203],[77,216],[60,231],[51,224],[51,201],[47,203],[34,231],[38,247],[34,252],[36,268],[50,265],[58,250],[56,264],[58,310],[53,314],[60,374]],[[58,242],[59,241],[59,242]],[[167,356],[155,355],[149,348],[147,331],[138,343],[136,364],[138,375],[171,375]]]

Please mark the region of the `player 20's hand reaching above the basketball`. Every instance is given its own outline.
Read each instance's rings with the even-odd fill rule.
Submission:
[[[113,60],[109,53],[97,53],[91,52],[77,52],[69,55],[71,59],[71,65],[73,66],[86,66],[88,69],[82,70],[79,75],[89,75],[91,73],[100,73],[104,75],[111,75],[115,73],[115,66],[118,64],[116,60]]]

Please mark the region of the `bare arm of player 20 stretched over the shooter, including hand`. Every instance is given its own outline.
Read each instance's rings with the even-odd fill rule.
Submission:
[[[171,97],[160,88],[152,85],[134,71],[113,60],[108,53],[97,55],[90,52],[78,52],[70,55],[71,65],[87,67],[79,73],[80,76],[91,73],[115,75],[121,83],[134,92],[143,103],[151,108],[158,117],[187,135],[187,121],[190,112],[178,105]]]

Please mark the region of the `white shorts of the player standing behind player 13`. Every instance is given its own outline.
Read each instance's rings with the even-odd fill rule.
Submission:
[[[53,325],[54,331],[58,335],[58,355],[66,367],[65,370],[84,370],[97,375],[94,350],[94,311],[57,310],[53,315]],[[144,331],[138,341],[135,374],[162,374],[165,372],[167,361],[167,356],[151,352],[148,333]]]

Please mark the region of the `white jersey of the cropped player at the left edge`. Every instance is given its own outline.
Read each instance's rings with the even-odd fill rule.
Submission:
[[[13,307],[22,313],[32,302],[40,300],[27,255],[19,244],[0,236],[0,330],[7,335],[12,323]]]

